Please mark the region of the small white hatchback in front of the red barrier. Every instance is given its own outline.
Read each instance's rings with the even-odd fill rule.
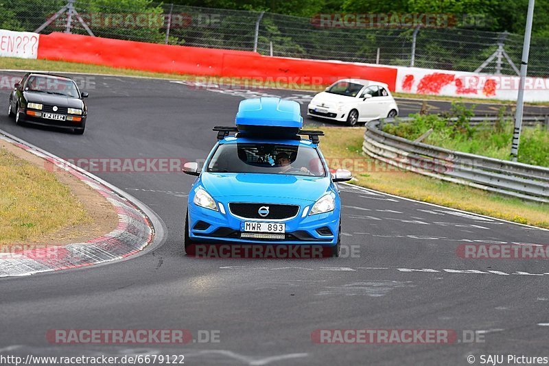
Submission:
[[[362,79],[338,80],[315,95],[307,107],[307,116],[347,122],[350,126],[398,114],[387,84]]]

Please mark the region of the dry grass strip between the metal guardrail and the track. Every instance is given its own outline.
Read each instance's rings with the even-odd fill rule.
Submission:
[[[331,168],[349,169],[354,184],[480,215],[549,228],[549,205],[401,171],[362,154],[364,127],[323,127],[323,154]]]

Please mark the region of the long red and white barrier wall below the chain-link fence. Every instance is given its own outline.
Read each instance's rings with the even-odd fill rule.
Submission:
[[[39,42],[38,42],[39,40]],[[0,56],[98,64],[161,73],[250,77],[328,85],[344,77],[376,80],[418,95],[517,99],[517,76],[384,66],[358,62],[261,56],[251,51],[133,42],[54,32],[0,30]],[[526,78],[526,101],[549,101],[549,79]]]

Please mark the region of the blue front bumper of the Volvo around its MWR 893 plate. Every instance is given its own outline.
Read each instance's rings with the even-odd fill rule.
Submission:
[[[189,202],[189,238],[200,243],[234,243],[234,244],[283,244],[283,245],[323,245],[333,246],[338,242],[340,213],[336,209],[318,215],[303,214],[301,206],[298,215],[292,219],[277,221],[285,223],[284,239],[243,238],[242,225],[245,221],[257,222],[257,219],[241,219],[229,212],[209,210]],[[310,206],[310,205],[309,205]],[[317,231],[319,230],[319,231]],[[329,233],[329,234],[328,234]]]

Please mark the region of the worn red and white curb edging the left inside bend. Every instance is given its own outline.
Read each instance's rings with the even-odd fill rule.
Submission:
[[[8,141],[53,164],[56,169],[68,171],[76,178],[100,193],[115,207],[118,225],[115,230],[85,243],[73,243],[53,247],[25,249],[20,252],[0,253],[0,277],[28,276],[34,273],[73,269],[120,260],[136,254],[158,236],[152,221],[158,218],[141,202],[119,188],[104,182],[95,175],[69,162],[34,147],[15,136],[0,130],[0,139]],[[156,237],[156,239],[159,239]],[[156,241],[156,240],[155,240]]]

